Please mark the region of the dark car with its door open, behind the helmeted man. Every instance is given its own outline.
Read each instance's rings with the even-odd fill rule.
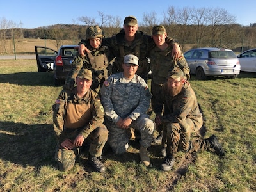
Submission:
[[[63,84],[70,72],[78,45],[61,45],[58,51],[48,47],[35,46],[38,72],[53,70],[54,85]]]

